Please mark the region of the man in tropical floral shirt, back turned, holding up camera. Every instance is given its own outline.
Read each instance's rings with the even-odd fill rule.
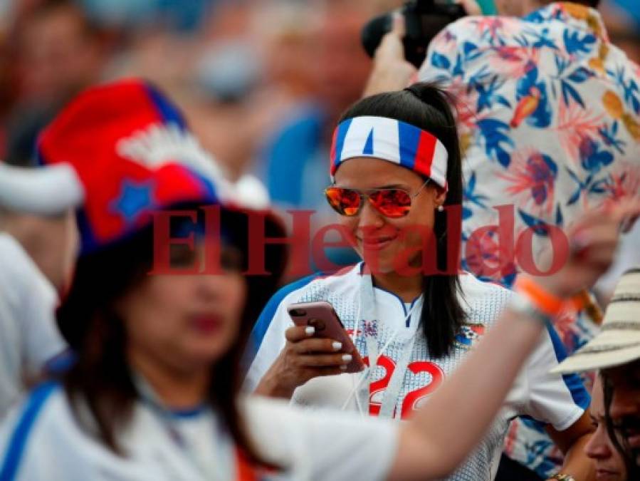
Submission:
[[[473,0],[462,3],[474,7]],[[499,16],[468,16],[439,33],[417,79],[443,83],[458,104],[463,267],[510,285],[519,270],[535,269],[526,254],[537,258],[550,226],[565,228],[585,210],[639,195],[640,68],[609,43],[589,8],[598,0],[495,3]],[[385,38],[367,93],[402,88],[409,79],[399,46]],[[513,222],[515,255],[500,244],[498,221]],[[535,234],[518,249],[528,227]],[[583,315],[565,317],[558,328],[572,352],[596,327]],[[560,449],[527,420],[513,423],[505,448],[543,478],[561,464]]]

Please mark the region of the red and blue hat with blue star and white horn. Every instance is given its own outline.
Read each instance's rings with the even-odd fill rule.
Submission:
[[[136,232],[154,210],[219,203],[224,182],[179,110],[140,80],[78,95],[37,152],[40,169],[0,165],[0,203],[40,214],[77,208],[83,254]]]

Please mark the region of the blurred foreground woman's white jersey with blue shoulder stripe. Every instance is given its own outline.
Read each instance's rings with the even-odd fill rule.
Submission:
[[[256,481],[384,480],[397,452],[397,425],[389,421],[362,423],[335,411],[318,418],[258,397],[241,406],[253,445],[284,468],[261,473]],[[0,425],[0,479],[249,480],[238,475],[231,438],[209,409],[159,415],[139,401],[117,438],[126,456],[115,455],[81,430],[63,388],[44,384]]]

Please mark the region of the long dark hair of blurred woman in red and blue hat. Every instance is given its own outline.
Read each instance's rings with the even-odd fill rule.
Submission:
[[[202,232],[204,219],[199,212],[196,227]],[[243,254],[248,247],[246,214],[239,212],[221,214],[221,226],[225,242],[237,247]],[[231,227],[231,229],[226,229]],[[184,230],[184,225],[172,229]],[[268,236],[282,236],[280,227],[267,224]],[[148,279],[153,262],[153,229],[149,225],[127,239],[112,244],[78,260],[73,285],[58,309],[57,320],[63,336],[74,350],[75,360],[62,373],[62,383],[70,398],[75,417],[88,433],[118,455],[126,455],[117,443],[117,432],[130,420],[138,393],[125,356],[125,326],[116,313],[115,305],[122,296]],[[236,406],[240,389],[238,366],[248,333],[266,301],[280,281],[285,252],[283,247],[267,248],[267,276],[251,276],[247,279],[247,297],[241,319],[240,336],[234,346],[213,366],[208,401],[211,408],[221,414],[226,428],[249,460],[263,462],[251,446],[243,429]],[[246,257],[246,256],[244,256]],[[246,267],[246,259],[243,259]],[[82,403],[93,415],[95,425],[80,415]]]

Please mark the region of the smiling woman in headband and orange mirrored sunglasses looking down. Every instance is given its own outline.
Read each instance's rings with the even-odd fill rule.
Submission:
[[[458,273],[459,152],[448,98],[429,84],[373,95],[347,110],[335,130],[325,194],[362,262],[295,282],[271,299],[252,333],[249,390],[399,420],[456,371],[512,296]],[[350,356],[292,327],[287,307],[310,301],[332,304],[368,364],[362,373],[340,375]],[[492,429],[451,479],[493,479],[518,415],[549,425],[570,452],[563,474],[589,475],[582,450],[571,449],[591,431],[589,395],[577,376],[548,373],[564,356],[548,329]],[[476,408],[473,396],[468,402]]]

